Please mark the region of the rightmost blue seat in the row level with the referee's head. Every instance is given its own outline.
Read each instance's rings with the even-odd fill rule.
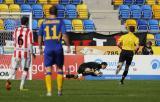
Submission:
[[[148,21],[148,30],[150,33],[159,32],[158,20],[151,19]]]

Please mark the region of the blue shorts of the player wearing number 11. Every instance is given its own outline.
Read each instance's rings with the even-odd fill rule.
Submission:
[[[56,64],[58,67],[62,68],[64,64],[64,54],[63,49],[47,50],[44,51],[44,65],[45,67],[50,67]]]

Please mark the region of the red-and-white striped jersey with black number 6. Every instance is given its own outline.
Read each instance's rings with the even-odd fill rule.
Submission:
[[[14,39],[14,57],[29,58],[32,53],[33,33],[26,26],[20,26],[13,33]]]

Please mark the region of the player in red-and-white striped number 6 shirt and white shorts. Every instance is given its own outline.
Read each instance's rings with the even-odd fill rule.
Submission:
[[[29,22],[28,17],[21,18],[21,26],[16,28],[13,33],[14,39],[14,54],[12,57],[12,69],[9,76],[9,79],[15,75],[17,68],[21,65],[23,72],[21,76],[20,90],[24,89],[24,82],[27,77],[27,73],[31,63],[32,43],[33,43],[33,34],[32,31],[27,27]],[[34,54],[33,54],[34,55]],[[34,56],[35,57],[35,56]],[[9,79],[7,80],[6,85],[10,84]],[[10,85],[11,86],[11,85]]]

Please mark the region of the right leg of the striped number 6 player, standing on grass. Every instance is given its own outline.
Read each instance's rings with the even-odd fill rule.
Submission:
[[[25,84],[25,81],[26,81],[26,78],[27,78],[27,75],[28,75],[28,70],[29,70],[29,67],[30,67],[30,64],[31,64],[31,58],[27,58],[27,59],[22,59],[21,60],[21,65],[22,65],[22,75],[21,75],[21,82],[20,82],[20,90],[21,91],[27,91],[28,89],[25,89],[24,88],[24,84]]]

